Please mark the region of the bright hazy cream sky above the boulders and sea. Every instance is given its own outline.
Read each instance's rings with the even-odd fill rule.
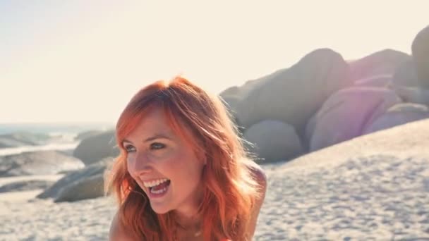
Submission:
[[[210,92],[291,66],[410,53],[429,1],[1,1],[0,123],[116,122],[141,87]]]

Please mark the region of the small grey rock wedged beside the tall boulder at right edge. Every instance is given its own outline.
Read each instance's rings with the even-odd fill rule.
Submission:
[[[418,87],[416,66],[413,59],[405,61],[397,67],[392,78],[394,85],[406,87]]]

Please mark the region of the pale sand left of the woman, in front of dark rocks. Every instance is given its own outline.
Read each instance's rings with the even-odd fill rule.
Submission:
[[[41,191],[0,197],[0,240],[107,240],[115,211],[112,199],[58,204],[33,199]]]

